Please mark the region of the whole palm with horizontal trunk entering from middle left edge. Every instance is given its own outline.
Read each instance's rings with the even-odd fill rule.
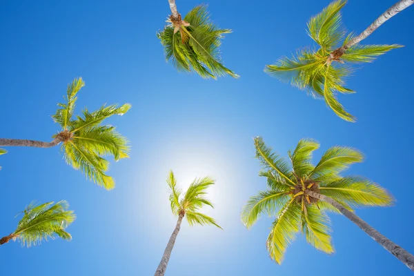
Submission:
[[[2,139],[0,146],[34,146],[50,148],[61,144],[66,163],[86,176],[99,186],[107,190],[115,188],[115,181],[106,175],[109,161],[104,157],[112,155],[116,161],[128,157],[130,147],[128,139],[110,125],[102,125],[102,121],[112,115],[124,115],[130,104],[123,106],[112,104],[103,105],[94,112],[83,110],[82,116],[72,118],[77,101],[77,92],[85,85],[81,78],[77,78],[68,85],[66,103],[59,103],[59,109],[53,119],[61,126],[61,131],[51,142],[32,141],[26,139]]]

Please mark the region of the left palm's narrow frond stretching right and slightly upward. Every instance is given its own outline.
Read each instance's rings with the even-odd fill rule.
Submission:
[[[130,110],[131,105],[125,103],[122,106],[118,104],[112,104],[110,106],[101,106],[98,110],[90,113],[87,109],[83,110],[83,117],[77,117],[77,119],[70,121],[70,132],[77,135],[77,131],[84,128],[92,128],[93,126],[98,126],[101,122],[111,117],[112,115],[124,115],[128,110]]]

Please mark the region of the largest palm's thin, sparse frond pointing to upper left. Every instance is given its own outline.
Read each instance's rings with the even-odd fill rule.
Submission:
[[[277,175],[286,180],[286,184],[289,186],[295,186],[295,183],[289,178],[291,175],[289,164],[276,153],[273,152],[273,148],[270,148],[264,144],[262,137],[256,137],[255,148],[256,158],[262,163],[265,169],[274,170]]]

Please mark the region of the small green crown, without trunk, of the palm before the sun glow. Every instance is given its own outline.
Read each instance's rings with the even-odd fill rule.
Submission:
[[[199,209],[203,206],[208,205],[214,208],[211,201],[206,198],[206,189],[214,184],[213,179],[210,177],[195,179],[185,194],[180,188],[177,188],[177,181],[172,171],[170,171],[167,183],[170,187],[170,204],[174,215],[185,215],[190,226],[210,224],[221,229],[213,217],[199,213]]]

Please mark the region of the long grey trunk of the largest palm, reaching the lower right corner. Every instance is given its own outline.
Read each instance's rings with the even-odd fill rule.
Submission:
[[[328,204],[331,204],[332,206],[337,208],[342,213],[342,215],[348,217],[348,219],[353,221],[354,224],[357,224],[357,226],[364,230],[364,232],[367,233],[370,237],[372,237],[375,240],[375,242],[380,244],[382,247],[388,250],[389,253],[393,254],[395,257],[397,257],[397,259],[399,259],[406,266],[408,266],[408,268],[414,271],[414,256],[408,253],[404,248],[392,242],[390,239],[388,239],[380,232],[375,230],[373,227],[371,227],[369,224],[367,224],[365,221],[363,221],[360,217],[352,213],[350,210],[344,208],[344,206],[339,204],[339,202],[335,201],[334,199],[331,199],[331,197],[326,197],[325,195],[315,193],[311,190],[307,190],[306,194],[310,195],[311,197],[320,199],[322,201],[326,201],[328,202]]]

